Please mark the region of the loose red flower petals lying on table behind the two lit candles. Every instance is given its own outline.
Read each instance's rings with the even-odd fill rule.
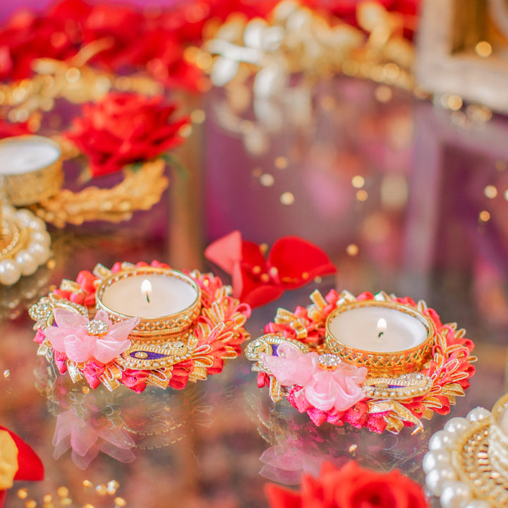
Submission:
[[[265,259],[258,244],[233,231],[210,243],[205,258],[233,279],[233,294],[250,307],[276,300],[286,289],[296,289],[314,277],[337,272],[325,252],[298,236],[279,238]]]

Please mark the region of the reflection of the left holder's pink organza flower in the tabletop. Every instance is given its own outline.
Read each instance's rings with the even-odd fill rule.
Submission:
[[[69,448],[76,466],[86,469],[99,452],[117,461],[132,462],[135,442],[123,428],[111,428],[111,422],[83,421],[73,411],[63,411],[56,418],[53,436],[54,458],[59,459]]]

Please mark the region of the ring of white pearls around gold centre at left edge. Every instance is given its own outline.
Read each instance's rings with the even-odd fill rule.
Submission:
[[[6,254],[0,258],[0,284],[11,286],[22,275],[32,275],[49,260],[51,237],[45,222],[29,210],[16,210],[10,205],[4,205],[0,214],[0,220],[3,219],[15,223],[26,234],[22,249],[12,256]]]

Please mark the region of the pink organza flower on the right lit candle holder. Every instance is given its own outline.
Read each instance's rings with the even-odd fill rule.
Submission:
[[[291,344],[281,344],[278,356],[262,354],[262,363],[282,386],[299,385],[310,404],[321,411],[346,411],[365,399],[360,385],[365,367],[339,363],[334,370],[320,368],[317,353],[302,353]]]

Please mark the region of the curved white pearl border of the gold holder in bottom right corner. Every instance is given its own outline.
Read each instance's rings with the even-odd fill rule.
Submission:
[[[429,452],[423,457],[425,485],[440,497],[442,508],[491,508],[485,500],[473,499],[471,487],[457,479],[452,449],[456,440],[476,421],[490,417],[490,411],[477,407],[469,411],[466,418],[451,418],[430,438]]]

